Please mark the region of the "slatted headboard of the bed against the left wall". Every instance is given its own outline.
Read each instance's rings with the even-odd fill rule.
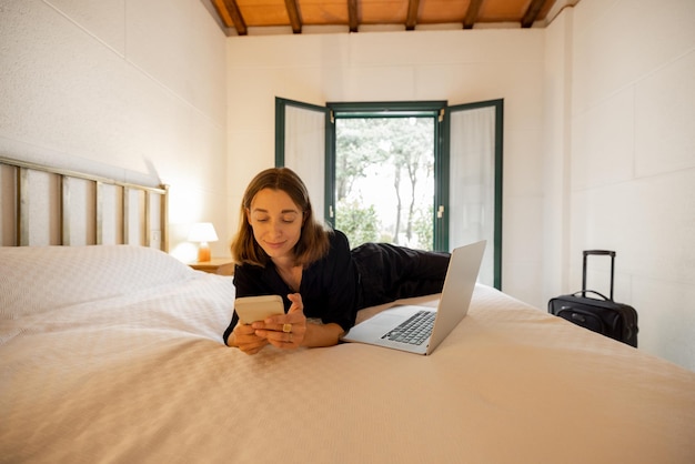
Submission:
[[[169,250],[168,185],[0,157],[0,244],[133,244]]]

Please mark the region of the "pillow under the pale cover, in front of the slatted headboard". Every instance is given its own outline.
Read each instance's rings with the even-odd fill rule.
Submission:
[[[195,275],[145,246],[2,246],[0,319],[108,299]]]

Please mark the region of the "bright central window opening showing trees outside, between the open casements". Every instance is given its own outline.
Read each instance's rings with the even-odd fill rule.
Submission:
[[[434,244],[434,118],[335,121],[335,228],[351,246]]]

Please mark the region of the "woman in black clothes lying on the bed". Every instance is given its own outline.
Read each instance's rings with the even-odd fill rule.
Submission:
[[[345,234],[315,219],[306,186],[288,168],[262,171],[246,188],[232,256],[238,297],[278,294],[285,305],[284,315],[249,325],[234,313],[224,342],[248,354],[268,344],[335,345],[357,310],[441,292],[450,259],[384,243],[351,251]]]

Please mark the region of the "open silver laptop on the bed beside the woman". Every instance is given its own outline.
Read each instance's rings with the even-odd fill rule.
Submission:
[[[469,312],[485,244],[454,249],[436,309],[395,305],[352,327],[343,341],[431,354]]]

